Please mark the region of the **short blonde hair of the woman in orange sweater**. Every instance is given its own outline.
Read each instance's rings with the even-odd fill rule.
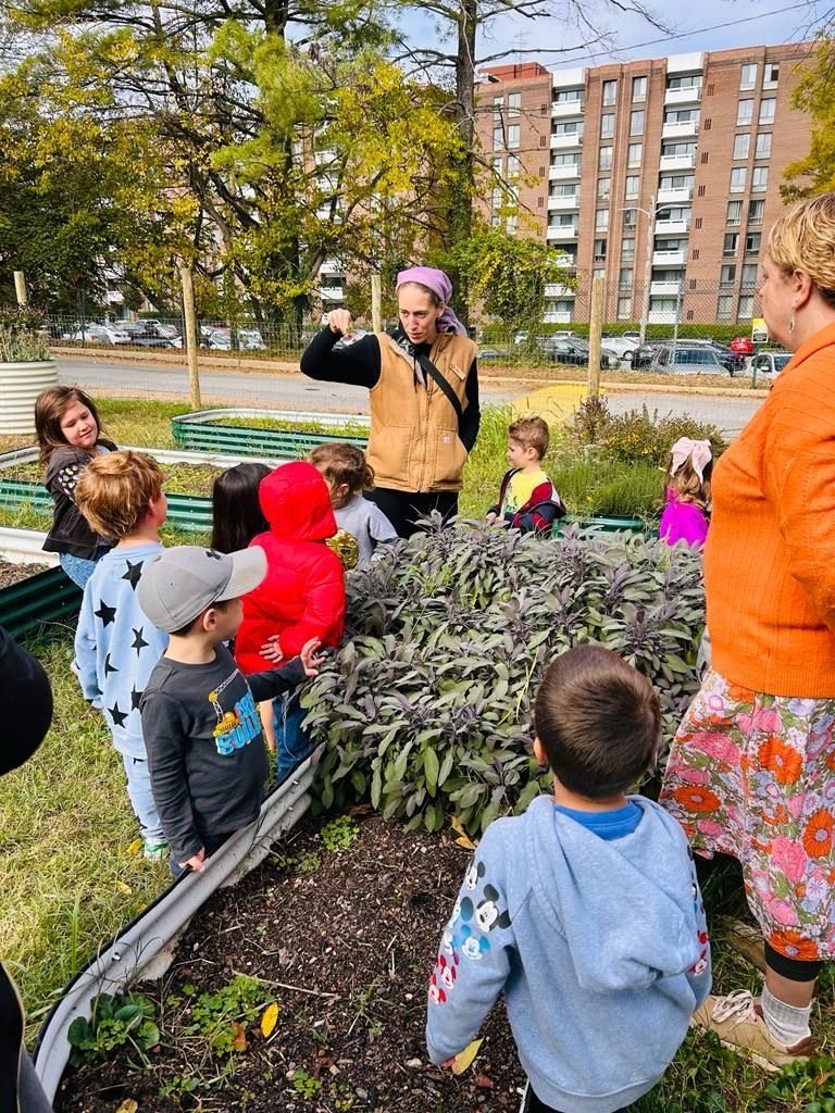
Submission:
[[[772,228],[768,254],[784,272],[803,270],[835,308],[835,193],[795,206]]]

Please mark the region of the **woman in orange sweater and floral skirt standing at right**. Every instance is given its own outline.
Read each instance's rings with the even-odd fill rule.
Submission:
[[[661,800],[696,849],[740,861],[765,937],[762,996],[709,997],[696,1020],[774,1070],[812,1051],[835,956],[835,194],[774,226],[759,296],[795,354],[714,470],[713,668]]]

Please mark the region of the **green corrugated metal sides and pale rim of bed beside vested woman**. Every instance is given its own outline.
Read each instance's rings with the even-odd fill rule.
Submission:
[[[200,452],[225,452],[238,455],[273,456],[295,460],[312,449],[328,442],[347,442],[365,450],[367,436],[344,436],[335,433],[295,432],[277,429],[246,429],[224,425],[224,417],[272,417],[276,421],[315,421],[322,425],[364,424],[367,418],[334,414],[306,414],[272,410],[202,410],[171,417],[174,443],[181,449]]]

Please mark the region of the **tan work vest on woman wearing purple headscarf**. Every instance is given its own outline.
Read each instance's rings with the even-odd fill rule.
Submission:
[[[371,433],[366,459],[374,482],[395,491],[460,491],[466,449],[459,439],[458,415],[431,375],[426,386],[414,361],[387,333],[380,341],[380,382],[372,387]],[[466,410],[466,376],[475,345],[465,336],[441,333],[429,358]]]

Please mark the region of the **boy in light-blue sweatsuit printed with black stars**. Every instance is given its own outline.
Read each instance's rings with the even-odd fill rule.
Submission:
[[[121,755],[145,856],[156,860],[167,857],[168,844],[154,804],[139,700],[168,634],[145,617],[136,588],[145,561],[163,551],[163,473],[141,452],[97,456],[78,481],[76,504],[96,533],[117,544],[85,588],[73,668],[85,699],[105,716]]]

